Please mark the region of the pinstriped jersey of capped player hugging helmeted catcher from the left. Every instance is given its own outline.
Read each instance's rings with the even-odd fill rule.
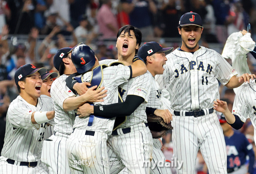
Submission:
[[[63,74],[54,80],[51,87],[51,97],[55,111],[54,131],[70,135],[73,131],[72,126],[75,121],[75,111],[64,111],[63,102],[69,97],[74,97],[75,94],[66,86],[67,77],[67,75]]]

